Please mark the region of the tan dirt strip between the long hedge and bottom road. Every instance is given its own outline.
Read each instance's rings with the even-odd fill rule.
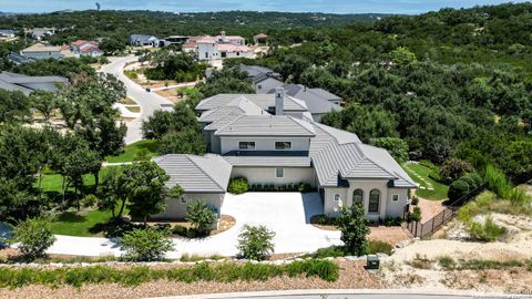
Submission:
[[[339,278],[327,282],[318,278],[277,277],[266,281],[238,281],[222,283],[214,281],[175,282],[156,280],[136,287],[123,287],[115,283],[86,285],[81,288],[28,286],[18,289],[0,289],[0,298],[145,298],[196,293],[216,293],[235,291],[266,291],[289,289],[377,289],[381,288],[378,278],[364,269],[365,262],[338,259]]]

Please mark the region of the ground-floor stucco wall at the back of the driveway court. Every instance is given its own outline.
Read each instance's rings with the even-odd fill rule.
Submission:
[[[298,184],[307,183],[316,186],[316,174],[313,167],[283,167],[284,177],[276,177],[276,167],[233,167],[231,177],[243,176],[253,184]]]

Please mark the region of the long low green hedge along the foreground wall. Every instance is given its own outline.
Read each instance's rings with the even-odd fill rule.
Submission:
[[[227,262],[219,265],[198,264],[193,267],[174,268],[151,268],[145,266],[131,268],[110,266],[62,267],[55,269],[0,267],[0,287],[18,288],[29,285],[81,287],[89,283],[119,283],[131,287],[158,279],[182,282],[264,281],[285,275],[289,277],[303,275],[317,277],[326,281],[336,281],[338,272],[338,265],[323,259],[294,261],[287,265]]]

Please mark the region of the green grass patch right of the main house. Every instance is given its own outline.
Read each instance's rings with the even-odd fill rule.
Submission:
[[[408,163],[407,166],[403,164],[402,168],[408,173],[410,178],[412,178],[416,183],[420,184],[420,186],[424,187],[424,189],[422,189],[422,188],[416,189],[416,194],[419,197],[422,197],[424,199],[432,199],[432,200],[441,200],[441,199],[447,198],[447,192],[449,190],[449,186],[443,185],[441,183],[438,183],[438,182],[433,181],[432,178],[430,178],[429,174],[432,172],[431,168],[429,168],[427,166],[423,166],[421,164],[417,164],[417,163]],[[434,189],[429,190],[427,188],[427,183],[421,181],[415,174],[418,174],[426,182],[429,182]]]

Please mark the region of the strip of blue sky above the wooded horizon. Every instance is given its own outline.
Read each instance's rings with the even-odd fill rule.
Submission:
[[[0,0],[0,11],[50,12],[64,9],[94,9],[96,1],[81,0]],[[498,0],[98,0],[102,9],[164,11],[313,11],[327,13],[421,13],[444,7],[469,8],[498,4]],[[525,2],[525,1],[513,1]]]

